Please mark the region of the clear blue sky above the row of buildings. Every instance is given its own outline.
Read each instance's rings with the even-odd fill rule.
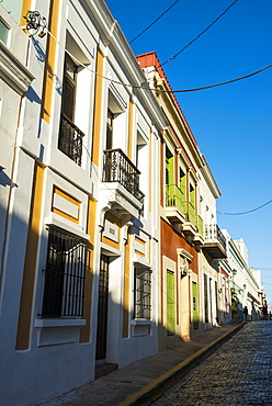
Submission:
[[[174,0],[106,0],[132,41]],[[134,41],[135,55],[156,50],[160,63],[205,30],[234,0],[180,0]],[[206,33],[163,65],[172,89],[223,82],[272,64],[271,0],[238,0]],[[272,68],[214,89],[177,93],[222,192],[219,212],[239,213],[272,200]],[[272,304],[272,203],[247,215],[219,215],[218,225],[243,238],[249,266],[262,270]]]

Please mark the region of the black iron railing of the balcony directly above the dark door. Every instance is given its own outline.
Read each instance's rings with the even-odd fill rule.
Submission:
[[[139,190],[140,171],[127,158],[122,149],[104,150],[103,182],[118,182],[138,201],[144,193]]]

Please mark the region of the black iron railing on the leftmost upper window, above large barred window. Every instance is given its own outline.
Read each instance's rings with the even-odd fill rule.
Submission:
[[[79,166],[81,166],[83,136],[84,133],[82,133],[64,114],[60,115],[58,149]]]

